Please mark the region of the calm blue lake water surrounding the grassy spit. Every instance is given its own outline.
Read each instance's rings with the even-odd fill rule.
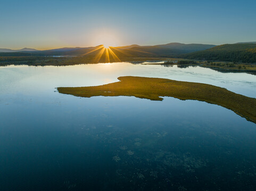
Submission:
[[[255,190],[256,124],[201,101],[79,98],[133,75],[256,97],[256,76],[129,63],[0,67],[0,190]]]

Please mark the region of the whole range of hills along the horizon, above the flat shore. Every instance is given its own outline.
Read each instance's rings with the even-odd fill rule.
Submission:
[[[1,50],[1,49],[0,49]],[[235,43],[224,45],[207,44],[182,44],[171,42],[164,45],[140,46],[128,45],[121,47],[109,47],[104,45],[96,47],[64,47],[49,50],[26,51],[28,48],[0,53],[0,56],[77,56],[92,59],[98,55],[108,54],[108,50],[114,53],[116,60],[128,58],[186,58],[196,60],[216,60],[228,62],[256,63],[256,43]],[[35,50],[35,49],[32,49]],[[114,57],[115,57],[114,56]],[[104,56],[103,56],[104,57]],[[112,57],[112,59],[114,59]]]

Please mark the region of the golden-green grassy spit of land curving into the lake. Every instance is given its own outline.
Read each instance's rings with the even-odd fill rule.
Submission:
[[[134,96],[150,100],[174,97],[180,100],[199,100],[233,110],[236,114],[256,123],[256,99],[228,91],[218,86],[181,82],[151,77],[123,76],[120,82],[78,88],[57,88],[60,93],[78,97]]]

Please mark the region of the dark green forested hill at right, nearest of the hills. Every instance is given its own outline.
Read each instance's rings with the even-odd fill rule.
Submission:
[[[203,51],[176,55],[181,58],[256,63],[256,44],[238,43],[216,46]]]

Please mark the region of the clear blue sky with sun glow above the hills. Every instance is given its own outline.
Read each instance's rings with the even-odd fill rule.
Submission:
[[[255,0],[0,1],[0,48],[256,41]]]

